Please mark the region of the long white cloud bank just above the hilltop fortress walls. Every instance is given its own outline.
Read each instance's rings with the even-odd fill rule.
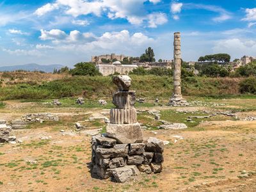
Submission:
[[[45,31],[42,31],[45,33]],[[49,32],[49,31],[47,31]],[[49,34],[49,33],[47,33]],[[152,38],[149,38],[143,33],[130,34],[129,31],[123,30],[119,32],[106,32],[101,36],[95,36],[92,33],[81,33],[79,31],[70,31],[69,35],[65,35],[65,39],[58,36],[49,36],[44,40],[51,40],[54,43],[54,49],[57,51],[68,51],[69,54],[102,54],[103,52],[134,52],[138,54],[138,50],[143,50],[145,47],[154,43]],[[37,45],[37,48],[47,47],[47,45]],[[132,49],[131,49],[132,47]]]

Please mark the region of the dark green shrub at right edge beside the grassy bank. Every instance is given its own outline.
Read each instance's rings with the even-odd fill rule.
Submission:
[[[248,77],[239,83],[240,93],[256,94],[256,77]]]

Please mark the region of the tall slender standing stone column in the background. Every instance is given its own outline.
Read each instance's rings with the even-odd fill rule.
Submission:
[[[182,98],[181,93],[181,51],[180,51],[180,33],[174,33],[174,42],[173,42],[173,95],[170,99],[169,104],[171,106],[188,106],[188,102]]]

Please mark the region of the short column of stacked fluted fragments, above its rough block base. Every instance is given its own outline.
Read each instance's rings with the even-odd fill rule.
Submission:
[[[118,86],[118,91],[113,95],[116,108],[110,110],[110,124],[107,126],[106,135],[118,143],[138,143],[143,140],[143,135],[134,108],[135,92],[129,91],[131,78],[114,76],[113,83]]]

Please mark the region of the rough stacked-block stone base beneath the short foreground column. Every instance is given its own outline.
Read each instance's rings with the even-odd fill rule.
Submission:
[[[147,138],[141,143],[116,143],[115,139],[105,136],[92,138],[93,177],[125,182],[140,173],[162,171],[163,141]]]

